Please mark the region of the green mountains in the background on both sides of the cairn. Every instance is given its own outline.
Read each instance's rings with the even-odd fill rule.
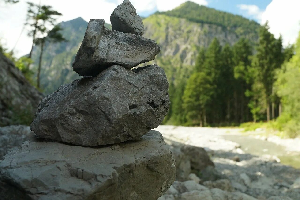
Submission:
[[[222,45],[227,42],[232,45],[240,37],[254,42],[260,26],[244,17],[193,2],[185,2],[172,11],[157,12],[144,18],[143,23],[143,37],[153,39],[161,46],[161,53],[146,64],[160,65],[166,71],[169,82],[175,81],[175,84],[189,76],[201,46],[207,47],[215,37]],[[46,45],[41,71],[41,85],[45,93],[54,92],[60,85],[79,78],[71,66],[87,24],[81,17],[62,22],[62,34],[68,42]],[[110,25],[106,26],[110,28]],[[38,61],[38,53],[37,47],[33,52],[35,61]]]

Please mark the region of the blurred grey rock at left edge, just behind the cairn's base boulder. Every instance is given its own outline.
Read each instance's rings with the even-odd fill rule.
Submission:
[[[34,135],[29,126],[11,125],[0,128],[0,158],[17,149]]]

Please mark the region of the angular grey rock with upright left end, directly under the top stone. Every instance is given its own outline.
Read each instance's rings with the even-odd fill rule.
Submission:
[[[161,48],[142,36],[111,31],[104,20],[90,20],[73,62],[80,76],[93,76],[112,65],[133,68],[155,59]]]

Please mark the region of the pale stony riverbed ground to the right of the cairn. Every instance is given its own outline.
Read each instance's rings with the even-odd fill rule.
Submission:
[[[161,199],[300,199],[300,171],[281,164],[275,155],[245,153],[240,144],[226,139],[227,135],[241,137],[241,129],[159,126],[156,130],[167,143],[204,147],[216,169],[209,178],[207,170],[197,174],[200,184],[176,181]],[[290,144],[296,144],[296,140]],[[276,141],[287,150],[298,148],[283,139]],[[274,142],[275,147],[277,144]],[[257,147],[259,143],[253,145],[265,149]]]

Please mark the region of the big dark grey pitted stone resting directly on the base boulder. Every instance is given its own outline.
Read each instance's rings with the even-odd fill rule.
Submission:
[[[44,98],[30,128],[42,138],[83,146],[134,140],[164,120],[168,87],[158,65],[135,70],[111,66]]]

